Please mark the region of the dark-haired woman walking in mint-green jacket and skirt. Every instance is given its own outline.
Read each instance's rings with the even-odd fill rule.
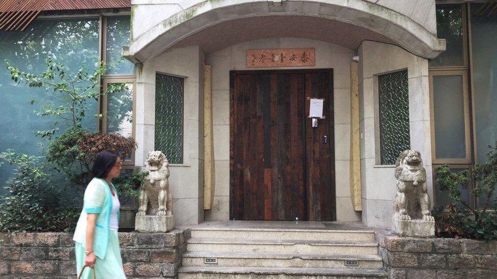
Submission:
[[[117,233],[120,203],[111,182],[120,171],[121,159],[116,152],[103,150],[98,154],[73,237],[78,274],[89,266],[99,279],[126,278]],[[93,271],[86,268],[81,278],[93,278]]]

